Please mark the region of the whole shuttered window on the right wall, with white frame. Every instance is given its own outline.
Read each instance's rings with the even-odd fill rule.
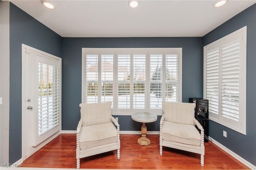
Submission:
[[[246,27],[204,47],[209,117],[246,134]]]

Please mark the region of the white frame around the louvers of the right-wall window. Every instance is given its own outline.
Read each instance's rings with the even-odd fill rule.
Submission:
[[[232,32],[231,34],[228,34],[227,36],[224,36],[223,38],[220,38],[219,40],[216,40],[215,42],[212,42],[206,46],[204,46],[204,98],[207,99],[207,73],[206,73],[206,66],[207,66],[207,49],[212,48],[216,49],[218,48],[218,114],[217,113],[211,113],[209,110],[209,119],[219,123],[220,125],[223,125],[225,127],[228,127],[232,130],[235,130],[237,132],[240,132],[242,134],[246,135],[246,41],[247,41],[247,26],[244,26],[243,28],[240,28],[239,30]],[[236,39],[236,36],[238,37]],[[239,38],[240,37],[240,38]],[[239,108],[238,108],[238,115],[239,119],[235,123],[234,120],[231,118],[227,118],[223,116],[222,114],[222,48],[225,45],[225,41],[232,40],[234,42],[235,40],[239,40]],[[241,40],[241,41],[240,41]],[[236,60],[237,61],[237,60]],[[232,93],[229,93],[230,95]],[[210,100],[209,100],[210,105]]]

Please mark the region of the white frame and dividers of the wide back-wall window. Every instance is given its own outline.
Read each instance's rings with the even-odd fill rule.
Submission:
[[[148,79],[150,80],[150,73],[148,73],[150,71],[150,52],[151,53],[158,53],[161,52],[163,55],[163,60],[165,59],[165,55],[177,55],[178,56],[178,102],[182,102],[182,48],[82,48],[82,103],[86,102],[86,53],[87,51],[97,51],[95,53],[98,53],[98,56],[102,55],[103,53],[101,53],[100,51],[115,51],[114,53],[114,64],[117,65],[117,53],[120,53],[120,51],[129,51],[130,53],[130,66],[133,67],[133,54],[134,55],[140,55],[143,52],[142,51],[147,51],[146,53],[146,83],[145,83],[145,108],[144,109],[118,109],[116,106],[116,103],[118,102],[117,99],[117,95],[113,95],[113,102],[112,102],[112,115],[131,115],[134,112],[138,112],[138,111],[146,111],[146,112],[152,112],[155,113],[156,115],[162,115],[162,109],[150,109],[150,100],[148,95],[150,93],[148,93],[148,91],[150,91],[150,81],[148,81]],[[134,51],[138,51],[138,53],[133,53]],[[170,51],[172,53],[170,53]],[[164,61],[165,62],[165,61]],[[165,65],[163,67],[163,70],[165,68]],[[113,88],[117,88],[116,86],[118,86],[117,84],[117,68],[115,66],[115,68],[113,69],[113,77],[114,77],[114,85]],[[131,68],[132,70],[132,68]],[[131,75],[132,75],[132,71],[130,71]],[[131,81],[132,82],[132,81]],[[133,101],[130,100],[130,103],[132,103]],[[132,104],[131,104],[132,106]]]

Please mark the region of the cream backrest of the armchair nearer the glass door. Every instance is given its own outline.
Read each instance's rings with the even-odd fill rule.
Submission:
[[[81,103],[82,126],[98,125],[111,122],[112,102]]]

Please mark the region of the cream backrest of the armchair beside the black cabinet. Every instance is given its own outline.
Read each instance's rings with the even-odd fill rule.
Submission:
[[[195,125],[195,103],[177,103],[162,101],[164,120],[173,123]]]

